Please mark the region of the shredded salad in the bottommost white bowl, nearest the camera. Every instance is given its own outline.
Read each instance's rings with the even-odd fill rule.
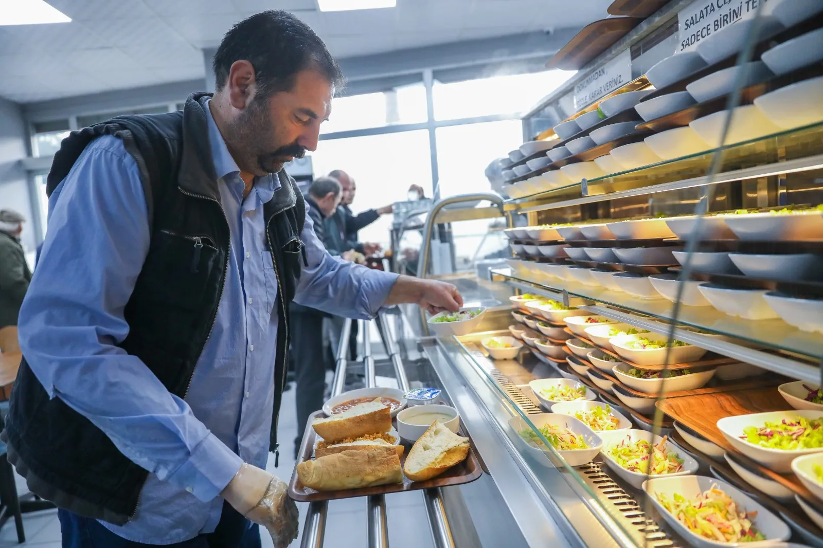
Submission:
[[[757,512],[746,512],[725,491],[718,489],[717,484],[697,495],[695,500],[686,499],[679,494],[675,494],[673,499],[661,493],[654,496],[690,532],[711,541],[732,543],[766,540],[765,535],[757,531],[751,522],[752,518],[756,518]]]

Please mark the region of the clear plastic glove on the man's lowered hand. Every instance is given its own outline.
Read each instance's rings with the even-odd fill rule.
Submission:
[[[277,476],[244,462],[221,496],[245,518],[266,527],[275,548],[286,548],[297,538],[300,521],[287,488]]]

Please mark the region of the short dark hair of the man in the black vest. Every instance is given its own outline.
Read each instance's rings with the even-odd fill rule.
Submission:
[[[307,68],[342,89],[342,72],[326,44],[289,12],[267,10],[231,27],[212,61],[217,91],[226,85],[232,63],[240,60],[252,63],[262,97],[291,90],[297,73]]]

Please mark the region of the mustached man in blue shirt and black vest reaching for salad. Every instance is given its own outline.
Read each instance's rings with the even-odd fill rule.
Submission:
[[[449,284],[332,258],[314,235],[281,170],[315,150],[340,81],[308,26],[249,17],[214,69],[213,98],[72,132],[49,174],[2,435],[61,507],[63,546],[252,548],[253,523],[288,546],[296,507],[265,470],[288,301],[356,318],[462,304]]]

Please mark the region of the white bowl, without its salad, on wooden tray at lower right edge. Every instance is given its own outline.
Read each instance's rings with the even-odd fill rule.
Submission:
[[[823,418],[823,411],[770,411],[768,413],[754,413],[751,415],[727,416],[718,420],[717,427],[723,437],[726,438],[732,447],[745,454],[756,462],[770,470],[781,474],[792,470],[792,461],[796,457],[809,455],[811,453],[821,453],[823,448],[783,450],[760,447],[760,445],[750,444],[743,436],[743,430],[747,426],[759,428],[766,422],[780,422],[781,420],[794,420],[797,416],[804,416],[807,419]]]

